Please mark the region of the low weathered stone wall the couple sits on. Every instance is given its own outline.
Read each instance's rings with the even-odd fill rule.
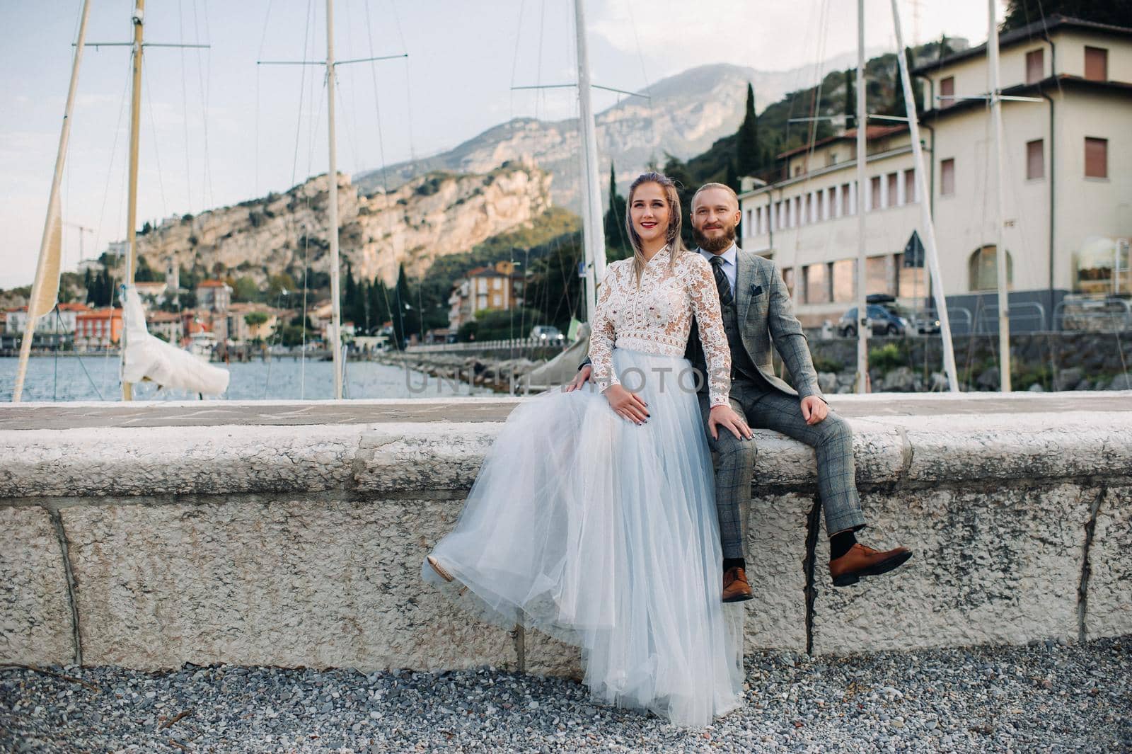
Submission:
[[[835,401],[867,541],[916,550],[846,589],[824,568],[813,453],[757,432],[749,648],[1132,633],[1132,393],[1072,410],[969,396],[962,413],[933,399]],[[470,622],[419,581],[498,421],[288,426],[295,409],[277,409],[276,423],[59,429],[0,412],[0,662],[576,672],[576,650]]]

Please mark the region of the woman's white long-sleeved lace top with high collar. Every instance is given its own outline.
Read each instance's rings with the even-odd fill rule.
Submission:
[[[668,247],[645,265],[640,286],[632,257],[614,262],[606,269],[590,335],[590,360],[598,387],[606,389],[620,383],[614,372],[614,348],[684,355],[693,316],[707,362],[711,405],[726,405],[731,389],[731,351],[711,265],[698,254],[685,251],[670,267]]]

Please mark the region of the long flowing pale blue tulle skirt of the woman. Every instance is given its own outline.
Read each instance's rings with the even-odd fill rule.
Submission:
[[[743,606],[720,601],[694,372],[625,349],[614,366],[648,423],[618,417],[592,386],[524,401],[432,551],[458,583],[427,563],[421,574],[481,618],[581,646],[595,699],[709,725],[741,699]]]

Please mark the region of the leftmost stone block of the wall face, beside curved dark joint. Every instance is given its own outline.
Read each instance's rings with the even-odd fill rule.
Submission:
[[[48,512],[0,507],[0,662],[75,660],[63,556]]]

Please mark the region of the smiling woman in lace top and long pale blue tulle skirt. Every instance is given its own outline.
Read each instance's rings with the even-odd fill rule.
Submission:
[[[743,636],[721,603],[702,376],[683,358],[693,316],[710,431],[751,429],[728,405],[719,295],[680,241],[676,187],[644,173],[627,204],[634,255],[609,265],[592,318],[597,388],[511,413],[421,574],[479,617],[580,645],[594,699],[704,726],[740,703]]]

